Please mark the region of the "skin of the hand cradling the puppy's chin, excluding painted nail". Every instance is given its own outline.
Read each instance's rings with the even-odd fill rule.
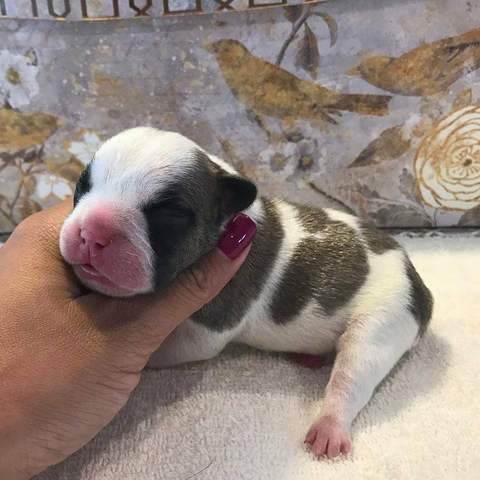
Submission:
[[[153,353],[214,298],[245,260],[219,249],[165,291],[86,292],[58,249],[71,201],[29,217],[0,249],[0,478],[64,460],[127,402]]]

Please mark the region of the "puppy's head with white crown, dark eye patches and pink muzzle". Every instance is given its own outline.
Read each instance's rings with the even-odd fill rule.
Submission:
[[[256,193],[178,133],[126,130],[100,147],[78,180],[60,251],[90,289],[149,292],[211,250]]]

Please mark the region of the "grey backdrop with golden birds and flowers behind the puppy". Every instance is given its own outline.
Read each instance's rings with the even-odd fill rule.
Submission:
[[[16,12],[34,4],[42,18],[62,2]],[[201,5],[213,4],[256,5]],[[0,17],[0,233],[71,195],[105,138],[144,124],[190,136],[267,195],[380,226],[480,226],[480,6],[262,2],[145,18],[155,2],[142,5],[143,20]]]

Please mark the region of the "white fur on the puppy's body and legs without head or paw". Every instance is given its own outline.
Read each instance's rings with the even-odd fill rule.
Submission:
[[[187,321],[154,354],[150,366],[212,358],[230,342],[263,350],[310,354],[336,348],[335,366],[320,415],[334,415],[348,427],[417,338],[418,324],[407,309],[410,285],[405,273],[405,254],[402,250],[381,255],[370,252],[367,280],[345,307],[334,315],[326,315],[312,301],[297,318],[278,325],[269,313],[276,287],[295,248],[312,235],[302,228],[295,207],[279,200],[275,205],[284,229],[280,252],[264,288],[241,323],[232,330],[214,333]],[[334,210],[328,210],[328,215],[358,229],[358,221],[351,215]]]

